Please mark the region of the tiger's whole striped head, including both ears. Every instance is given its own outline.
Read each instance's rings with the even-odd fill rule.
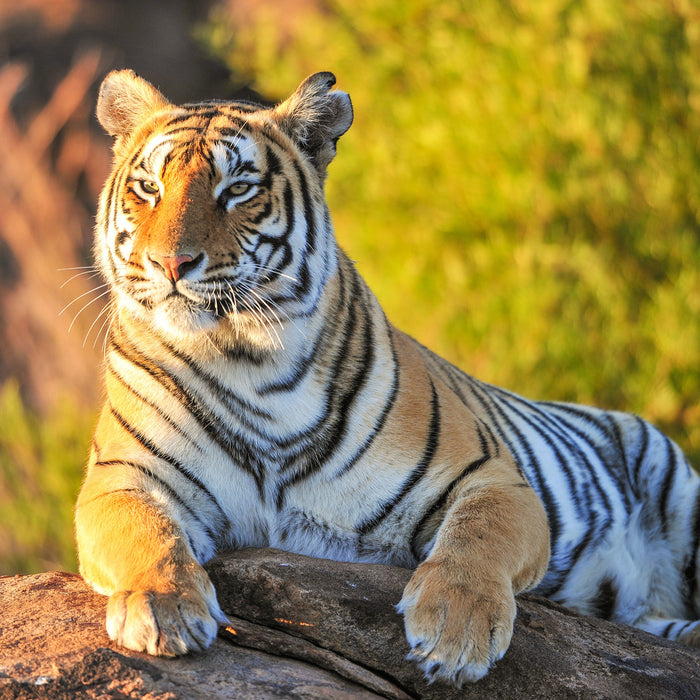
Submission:
[[[119,313],[178,342],[264,348],[281,317],[311,312],[337,259],[326,167],[353,118],[334,84],[316,73],[274,108],[177,106],[132,71],[107,75],[95,253]]]

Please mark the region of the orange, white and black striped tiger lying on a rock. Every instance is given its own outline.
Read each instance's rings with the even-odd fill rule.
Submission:
[[[391,324],[324,195],[353,121],[335,83],[276,106],[100,87],[113,318],[75,529],[109,636],[205,650],[227,618],[204,565],[274,547],[410,569],[430,682],[485,676],[528,590],[700,646],[700,478],[635,415],[527,400]]]

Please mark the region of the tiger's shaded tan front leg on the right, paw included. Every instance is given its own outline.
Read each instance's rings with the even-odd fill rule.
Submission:
[[[515,595],[544,576],[547,518],[516,478],[465,485],[397,606],[429,681],[482,678],[510,644]]]

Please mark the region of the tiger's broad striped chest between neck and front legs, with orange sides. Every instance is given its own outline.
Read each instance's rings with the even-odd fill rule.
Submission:
[[[314,356],[308,332],[298,349],[286,346],[300,359],[281,367],[225,356],[198,364],[155,341],[140,354],[114,349],[110,402],[160,455],[149,463],[161,481],[215,525],[217,547],[412,566],[444,494],[490,452],[464,404],[399,340],[396,353],[384,343],[347,371],[338,364],[330,380],[319,352],[304,361]]]

